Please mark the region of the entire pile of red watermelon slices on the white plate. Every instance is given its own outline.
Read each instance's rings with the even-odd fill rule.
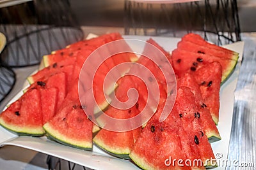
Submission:
[[[106,99],[102,97],[102,81],[99,80],[106,76],[111,67],[121,62],[138,60],[138,63],[147,66],[156,77],[160,92],[159,105],[156,110],[152,109],[156,113],[147,124],[128,132],[113,132],[100,129],[86,117],[83,111],[86,106],[79,102],[77,83],[88,55],[99,46],[117,39],[122,39],[122,36],[106,34],[45,55],[45,68],[28,78],[30,87],[1,113],[0,124],[19,135],[46,134],[49,139],[83,150],[92,150],[94,142],[111,155],[131,159],[143,169],[205,169],[216,166],[216,162],[206,160],[214,159],[210,143],[221,139],[216,127],[220,85],[232,73],[238,54],[207,43],[196,34],[184,36],[172,55],[149,39],[148,43],[157,46],[166,55],[177,75],[177,99],[169,117],[161,123],[159,117],[167,93],[160,66],[147,57],[141,56],[138,60],[132,53],[106,60],[95,77],[93,92],[98,95],[96,98],[100,109],[106,110],[107,115],[115,118],[134,117],[143,110],[147,101],[145,84],[133,76],[124,76],[118,81],[115,95],[120,101],[125,101],[127,90],[133,87],[140,95],[137,103],[127,110],[108,107]],[[148,80],[152,78],[148,77]],[[95,131],[99,132],[93,137]],[[168,162],[170,158],[192,162],[200,159],[202,164],[180,167],[178,164],[168,164],[172,163]]]

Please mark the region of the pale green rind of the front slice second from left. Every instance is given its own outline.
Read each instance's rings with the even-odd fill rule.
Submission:
[[[62,145],[70,146],[72,148],[77,148],[81,150],[92,151],[92,141],[83,141],[79,142],[77,139],[70,139],[66,136],[63,136],[58,130],[54,129],[49,122],[43,126],[46,136],[52,141],[56,141]]]

